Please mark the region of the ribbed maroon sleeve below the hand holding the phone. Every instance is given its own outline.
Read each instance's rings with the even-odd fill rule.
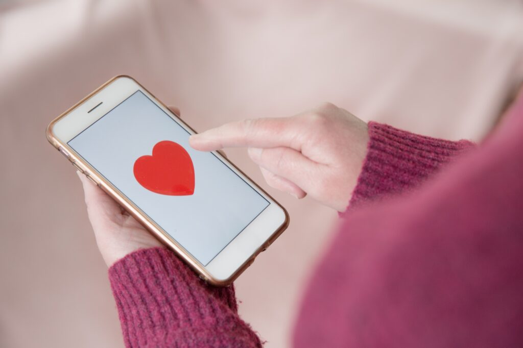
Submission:
[[[172,251],[135,251],[109,269],[127,347],[261,347],[233,286],[204,283]]]

